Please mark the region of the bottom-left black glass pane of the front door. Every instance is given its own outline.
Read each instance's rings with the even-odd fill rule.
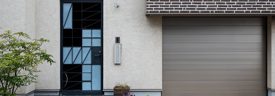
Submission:
[[[81,82],[63,82],[63,90],[82,90]]]

